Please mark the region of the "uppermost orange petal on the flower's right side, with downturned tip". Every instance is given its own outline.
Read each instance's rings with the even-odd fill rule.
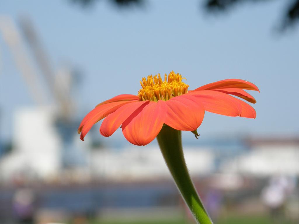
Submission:
[[[242,79],[224,79],[218,82],[212,82],[207,85],[203,85],[193,91],[198,90],[216,90],[216,89],[226,89],[226,88],[238,88],[238,89],[248,89],[248,90],[260,90],[251,82]]]

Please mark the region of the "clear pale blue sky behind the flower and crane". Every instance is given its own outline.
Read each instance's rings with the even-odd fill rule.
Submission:
[[[239,78],[261,90],[251,92],[256,119],[206,113],[201,136],[281,136],[299,134],[299,26],[275,31],[283,6],[280,0],[245,4],[213,16],[199,1],[147,1],[142,9],[119,10],[107,1],[82,9],[62,0],[20,0],[1,1],[0,14],[15,21],[30,16],[53,67],[69,63],[83,71],[75,93],[81,116],[115,95],[137,94],[143,76],[174,70],[190,89]],[[34,102],[0,43],[0,134],[8,139],[14,111]]]

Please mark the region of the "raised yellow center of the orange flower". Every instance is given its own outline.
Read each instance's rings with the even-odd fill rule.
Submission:
[[[167,79],[167,74],[164,75],[164,81],[161,79],[160,74],[155,76],[147,76],[140,81],[141,89],[138,91],[140,101],[151,100],[158,101],[169,100],[174,96],[180,96],[188,93],[188,87],[186,83],[182,82],[182,76],[179,73],[170,72]]]

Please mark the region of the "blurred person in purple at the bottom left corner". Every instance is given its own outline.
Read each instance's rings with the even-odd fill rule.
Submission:
[[[33,224],[35,196],[30,189],[17,190],[13,196],[13,211],[20,224]]]

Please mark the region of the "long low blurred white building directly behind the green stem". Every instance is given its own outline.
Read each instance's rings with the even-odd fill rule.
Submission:
[[[191,175],[207,174],[213,170],[214,157],[208,148],[184,148]],[[156,146],[92,151],[91,171],[96,178],[129,180],[170,178],[161,151]]]

